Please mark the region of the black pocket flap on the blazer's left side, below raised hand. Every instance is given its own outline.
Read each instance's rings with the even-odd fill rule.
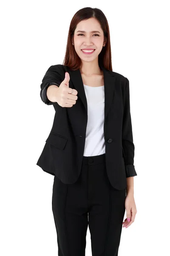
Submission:
[[[47,140],[45,140],[45,142],[50,143],[58,149],[64,149],[67,141],[68,138],[52,132],[49,134]]]

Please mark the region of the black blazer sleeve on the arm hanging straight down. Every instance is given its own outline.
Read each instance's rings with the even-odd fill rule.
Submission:
[[[134,164],[134,150],[132,123],[130,115],[130,93],[129,80],[126,78],[125,93],[124,93],[124,111],[122,124],[122,147],[124,151],[125,172],[126,177],[136,176]]]

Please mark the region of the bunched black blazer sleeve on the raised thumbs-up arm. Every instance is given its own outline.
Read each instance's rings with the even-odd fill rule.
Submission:
[[[42,99],[42,102],[44,102],[47,105],[57,104],[57,102],[51,102],[47,98],[47,89],[52,84],[55,84],[59,87],[61,82],[62,82],[62,79],[61,79],[61,72],[60,72],[59,64],[49,67],[47,72],[45,73],[45,76],[43,77],[42,83],[40,85],[40,87],[41,87],[40,97]]]

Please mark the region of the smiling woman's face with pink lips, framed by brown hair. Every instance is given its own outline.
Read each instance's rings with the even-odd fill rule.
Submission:
[[[77,24],[74,31],[74,47],[82,61],[94,61],[95,58],[98,58],[104,43],[103,30],[99,21],[94,17],[82,20]],[[87,54],[82,52],[82,49],[94,49],[94,52]]]

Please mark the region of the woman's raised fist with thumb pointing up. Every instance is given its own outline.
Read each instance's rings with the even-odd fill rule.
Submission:
[[[65,79],[59,85],[56,93],[56,101],[61,107],[71,108],[77,101],[77,90],[69,88],[70,75],[65,72]],[[72,92],[72,94],[71,94]]]

